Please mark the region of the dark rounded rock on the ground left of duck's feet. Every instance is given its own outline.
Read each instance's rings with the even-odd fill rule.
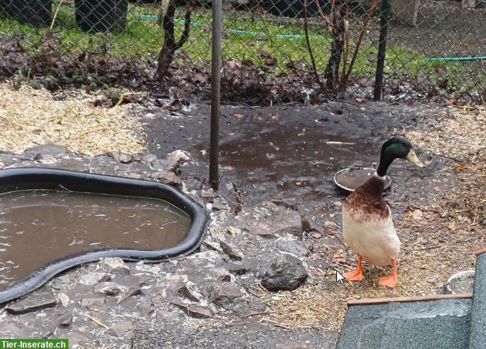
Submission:
[[[276,257],[265,271],[262,285],[269,291],[292,291],[307,279],[301,261],[290,254]]]

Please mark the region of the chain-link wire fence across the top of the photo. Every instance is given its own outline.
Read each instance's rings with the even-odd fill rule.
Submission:
[[[0,0],[0,71],[51,89],[175,85],[177,97],[207,95],[210,6]],[[485,102],[485,7],[484,0],[223,1],[223,99],[371,98],[386,40],[383,99]]]

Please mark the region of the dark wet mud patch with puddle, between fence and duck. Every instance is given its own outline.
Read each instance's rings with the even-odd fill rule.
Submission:
[[[296,199],[309,208],[325,203],[338,194],[336,171],[371,167],[378,161],[383,136],[376,130],[386,132],[381,114],[370,117],[359,107],[349,108],[333,112],[319,107],[223,107],[221,187],[227,182],[242,185],[252,192],[247,203],[278,197]],[[150,151],[164,156],[185,149],[207,164],[209,155],[201,151],[209,150],[208,114],[209,108],[203,107],[182,119],[149,122]],[[204,181],[207,167],[183,168],[182,176]]]

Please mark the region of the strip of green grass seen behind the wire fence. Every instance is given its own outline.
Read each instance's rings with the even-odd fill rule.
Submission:
[[[57,9],[58,1],[53,3],[53,11]],[[163,42],[162,28],[157,26],[157,6],[146,4],[143,6],[130,4],[126,28],[123,33],[83,33],[76,27],[73,4],[61,4],[54,26],[61,33],[61,50],[91,50],[112,57],[142,59],[155,57]],[[184,9],[178,9],[175,27],[176,33],[182,31],[182,16]],[[211,58],[211,12],[197,9],[192,14],[192,33],[183,50],[190,62],[209,62]],[[222,42],[224,61],[252,60],[259,66],[265,67],[269,53],[275,61],[274,65],[267,65],[265,72],[270,75],[286,73],[287,64],[291,61],[301,61],[306,70],[311,69],[311,60],[306,48],[304,27],[301,23],[277,23],[269,21],[264,16],[251,18],[247,14],[235,12],[233,16],[224,17],[224,37]],[[0,19],[0,32],[7,36],[21,34],[25,37],[24,47],[33,53],[38,50],[46,28],[33,28],[17,23],[14,20]],[[310,42],[314,50],[318,70],[326,68],[329,59],[331,38],[324,26],[309,24]],[[353,50],[355,33],[351,33],[350,48]],[[356,59],[353,73],[356,77],[372,77],[376,70],[376,43],[363,41],[362,48]],[[351,53],[350,53],[351,56]],[[457,85],[463,89],[475,87],[474,82],[465,83],[464,77],[477,76],[474,65],[469,63],[441,63],[440,68],[433,63],[426,63],[425,56],[403,45],[389,45],[386,57],[386,74],[392,77],[433,77],[442,80],[444,70],[448,72],[450,85]],[[351,60],[351,57],[349,58]],[[175,61],[175,65],[187,62]],[[453,73],[453,74],[450,74]],[[485,81],[484,72],[479,72],[480,80]],[[472,85],[472,86],[471,86]]]

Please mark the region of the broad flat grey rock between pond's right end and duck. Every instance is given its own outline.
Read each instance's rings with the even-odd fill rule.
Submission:
[[[244,215],[237,216],[242,221],[241,228],[263,237],[290,233],[302,240],[301,215],[275,203],[258,204]]]

